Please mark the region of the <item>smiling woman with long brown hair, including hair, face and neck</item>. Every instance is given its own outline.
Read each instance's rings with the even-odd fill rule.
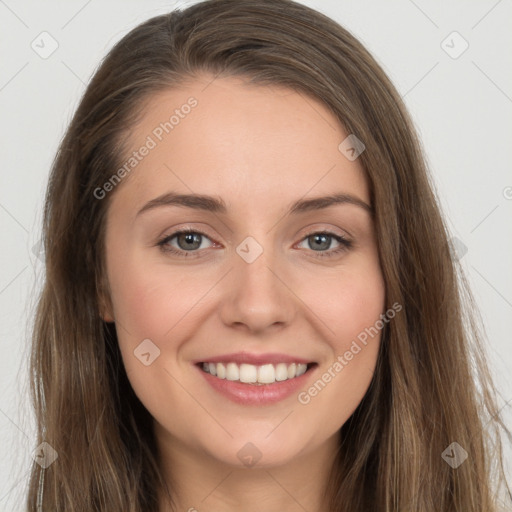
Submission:
[[[332,20],[210,0],[135,28],[62,141],[44,242],[29,510],[498,510],[503,424],[419,143]]]

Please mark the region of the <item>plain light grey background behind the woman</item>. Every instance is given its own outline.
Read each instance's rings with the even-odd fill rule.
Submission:
[[[0,511],[22,510],[35,448],[26,363],[42,278],[33,247],[51,161],[85,84],[111,46],[143,20],[191,3],[0,0]],[[451,234],[467,248],[461,263],[486,326],[500,405],[510,419],[512,3],[303,3],[356,35],[405,98]],[[43,31],[58,43],[46,59],[31,47],[35,41],[41,48],[46,37],[50,48]],[[468,49],[453,58],[464,40]]]

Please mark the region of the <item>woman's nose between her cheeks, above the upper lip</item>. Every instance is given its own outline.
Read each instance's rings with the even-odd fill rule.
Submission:
[[[225,325],[261,333],[290,324],[299,301],[276,259],[266,248],[252,262],[233,253],[233,269],[220,306]]]

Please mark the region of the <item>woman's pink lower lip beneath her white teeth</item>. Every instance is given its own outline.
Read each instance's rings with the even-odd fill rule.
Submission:
[[[273,384],[245,384],[239,381],[219,379],[210,373],[202,370],[198,365],[197,369],[201,372],[206,382],[226,398],[242,405],[267,405],[280,402],[289,396],[297,393],[305,385],[311,374],[315,371],[316,364],[309,368],[306,373],[300,377],[274,382]]]

